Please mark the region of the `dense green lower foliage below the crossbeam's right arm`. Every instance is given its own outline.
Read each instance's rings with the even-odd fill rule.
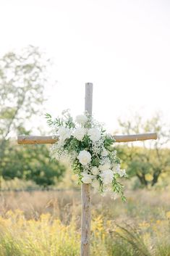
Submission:
[[[119,146],[117,152],[128,177],[137,177],[140,186],[155,186],[170,173],[170,149],[159,149],[159,157],[156,149],[139,146]]]

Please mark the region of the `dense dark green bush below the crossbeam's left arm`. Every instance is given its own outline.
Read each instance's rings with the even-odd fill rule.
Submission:
[[[35,181],[47,188],[55,185],[64,175],[64,166],[49,159],[49,149],[46,145],[21,147],[10,142],[6,150],[6,157],[1,166],[1,175],[6,180],[17,177]]]

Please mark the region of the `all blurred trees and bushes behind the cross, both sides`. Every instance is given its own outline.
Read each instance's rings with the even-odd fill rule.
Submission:
[[[1,188],[5,188],[5,183],[7,188],[14,187],[14,181],[18,189],[23,188],[23,181],[28,188],[77,187],[68,166],[51,162],[47,145],[19,146],[11,139],[19,133],[32,132],[27,123],[42,112],[48,65],[50,59],[34,46],[20,53],[9,52],[0,59]],[[166,186],[170,174],[170,129],[161,114],[156,113],[150,120],[136,114],[131,120],[118,122],[119,133],[158,133],[156,141],[116,145],[132,187]],[[40,128],[39,132],[43,134]]]

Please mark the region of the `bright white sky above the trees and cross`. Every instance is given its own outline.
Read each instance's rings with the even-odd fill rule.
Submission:
[[[0,54],[28,44],[56,65],[48,112],[80,114],[91,82],[93,113],[109,129],[129,108],[170,121],[169,0],[0,0]]]

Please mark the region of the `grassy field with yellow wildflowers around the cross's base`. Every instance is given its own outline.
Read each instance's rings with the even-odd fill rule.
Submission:
[[[92,194],[91,255],[170,256],[170,190]],[[79,256],[80,191],[1,192],[0,256]]]

